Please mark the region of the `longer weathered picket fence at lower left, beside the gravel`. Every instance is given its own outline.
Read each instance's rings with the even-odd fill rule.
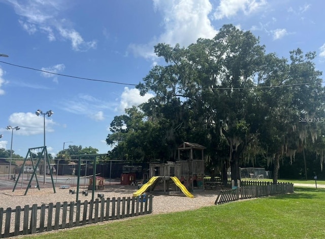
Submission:
[[[0,237],[71,228],[152,213],[152,195],[0,208]]]

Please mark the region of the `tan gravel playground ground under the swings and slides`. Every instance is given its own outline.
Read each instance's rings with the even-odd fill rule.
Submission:
[[[76,190],[76,188],[75,188]],[[91,200],[91,191],[88,191],[88,196],[82,196],[83,189],[79,189],[79,200]],[[137,191],[136,186],[111,185],[109,188],[96,191],[104,194],[105,198],[112,197],[132,197],[133,193]],[[24,205],[32,204],[48,204],[50,202],[71,202],[76,201],[76,194],[69,194],[69,189],[29,189],[27,195],[24,195],[25,190],[2,190],[0,191],[0,207],[6,209],[7,207],[15,208],[16,206],[23,207]],[[155,195],[153,199],[153,214],[169,213],[184,210],[193,210],[202,206],[213,205],[217,198],[217,190],[206,190],[204,192],[193,193],[194,198],[188,198],[184,194],[179,195]]]

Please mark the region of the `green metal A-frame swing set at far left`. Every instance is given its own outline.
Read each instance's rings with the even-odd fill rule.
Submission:
[[[32,153],[35,152],[35,150],[38,150],[38,152],[40,152],[40,150],[41,150],[41,154],[39,154],[39,156],[38,156],[38,160],[37,160],[36,164],[34,163],[34,160],[36,160],[36,159],[33,159],[33,158],[32,158]],[[45,170],[44,175],[45,175],[45,173],[46,173],[46,165],[48,165],[49,169],[51,168],[51,165],[50,165],[50,159],[49,159],[49,155],[48,155],[48,153],[47,153],[47,148],[46,148],[46,146],[42,146],[42,147],[34,147],[34,148],[28,148],[27,155],[26,155],[26,157],[25,157],[25,160],[24,160],[23,164],[21,165],[21,168],[20,168],[20,171],[19,171],[19,174],[18,174],[18,177],[17,177],[16,183],[15,183],[14,189],[12,190],[13,192],[15,191],[16,186],[17,186],[17,184],[18,184],[18,182],[19,182],[19,177],[20,177],[20,175],[22,175],[22,181],[23,181],[23,174],[24,174],[25,163],[26,163],[26,161],[29,161],[29,160],[30,160],[30,162],[31,162],[31,165],[32,165],[32,169],[33,169],[33,170],[32,170],[32,174],[31,174],[31,177],[30,177],[30,179],[29,179],[29,182],[28,182],[28,185],[27,185],[27,188],[26,188],[26,191],[25,191],[25,194],[24,194],[24,195],[27,194],[28,189],[31,187],[31,182],[32,182],[34,176],[35,176],[35,179],[36,179],[36,187],[37,187],[39,190],[41,190],[41,189],[40,189],[40,184],[39,184],[39,181],[38,181],[38,178],[37,178],[37,175],[36,175],[36,170],[37,170],[37,168],[38,168],[38,166],[40,165],[40,162],[41,162],[42,160],[45,161],[45,162],[44,162],[44,166],[45,166],[45,168],[44,168],[44,170]],[[56,192],[55,192],[55,185],[54,185],[54,180],[53,180],[52,170],[49,170],[49,171],[50,171],[50,175],[51,175],[51,181],[52,181],[53,191],[54,191],[54,193],[56,193]]]

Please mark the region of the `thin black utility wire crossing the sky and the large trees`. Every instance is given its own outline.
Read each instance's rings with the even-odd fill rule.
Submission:
[[[136,86],[137,84],[129,84],[129,83],[121,83],[121,82],[117,82],[117,81],[108,81],[108,80],[98,80],[98,79],[91,79],[91,78],[85,78],[85,77],[78,77],[78,76],[71,76],[71,75],[64,75],[64,74],[59,74],[59,73],[54,73],[54,72],[49,72],[49,71],[44,71],[44,70],[40,70],[40,69],[35,69],[35,68],[31,68],[31,67],[24,67],[24,66],[19,66],[19,65],[15,65],[15,64],[11,64],[8,62],[3,62],[0,61],[1,63],[10,65],[10,66],[14,66],[14,67],[20,67],[20,68],[24,68],[24,69],[29,69],[29,70],[34,70],[34,71],[40,71],[40,72],[45,72],[45,73],[49,73],[49,74],[53,74],[53,75],[59,75],[59,76],[66,76],[66,77],[70,77],[70,78],[76,78],[76,79],[82,79],[82,80],[91,80],[91,81],[99,81],[99,82],[105,82],[105,83],[113,83],[113,84],[122,84],[122,85],[133,85]],[[250,87],[216,87],[216,88],[201,88],[201,89],[253,89],[253,88],[277,88],[277,87],[288,87],[288,86],[298,86],[298,85],[309,85],[309,84],[317,84],[317,83],[325,83],[325,81],[321,81],[321,82],[308,82],[308,83],[297,83],[297,84],[283,84],[283,85],[257,85],[257,86],[250,86]],[[188,87],[191,88],[191,87]]]

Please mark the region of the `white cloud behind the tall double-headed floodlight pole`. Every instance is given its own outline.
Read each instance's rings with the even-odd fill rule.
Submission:
[[[44,118],[43,115],[37,116],[35,113],[18,112],[9,116],[9,125],[19,126],[20,130],[15,132],[19,135],[35,135],[44,133]],[[55,125],[52,117],[45,117],[46,132],[53,132],[52,128]]]

